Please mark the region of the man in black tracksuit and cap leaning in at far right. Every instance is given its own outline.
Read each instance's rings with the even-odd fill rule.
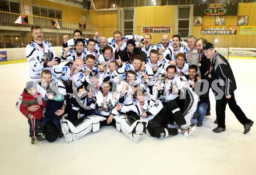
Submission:
[[[233,112],[239,122],[244,125],[244,134],[248,133],[250,131],[250,127],[253,126],[253,121],[248,119],[239,105],[236,104],[234,90],[236,90],[237,87],[229,62],[225,59],[225,57],[215,51],[212,43],[207,42],[204,45],[203,50],[207,59],[211,61],[207,76],[209,79],[211,79],[211,86],[216,99],[216,117],[218,127],[212,131],[215,133],[221,133],[226,130],[225,110],[226,105],[229,104],[230,110]],[[222,89],[222,92],[219,92],[218,88],[213,87],[213,81],[216,80],[219,80],[216,85],[218,88]]]

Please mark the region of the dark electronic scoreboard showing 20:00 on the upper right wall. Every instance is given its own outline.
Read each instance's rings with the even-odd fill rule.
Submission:
[[[210,3],[194,5],[194,16],[237,16],[237,11],[237,3]]]

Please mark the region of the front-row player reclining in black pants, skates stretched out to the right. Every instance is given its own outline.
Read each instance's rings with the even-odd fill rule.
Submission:
[[[163,138],[178,133],[189,136],[195,129],[184,126],[186,121],[175,101],[170,101],[163,107],[160,100],[152,95],[146,96],[143,89],[138,88],[137,100],[133,100],[133,104],[137,105],[137,111],[140,111],[141,121],[148,122],[147,129],[152,137]],[[167,126],[169,121],[175,121],[178,127],[169,128]]]

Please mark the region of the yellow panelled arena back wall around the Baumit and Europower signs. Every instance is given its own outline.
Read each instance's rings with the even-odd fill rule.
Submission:
[[[141,26],[171,26],[172,33],[177,32],[178,6],[145,6],[134,8],[134,34],[141,34]],[[120,8],[121,11],[123,8]],[[193,9],[193,8],[191,8]],[[201,35],[202,26],[191,25],[190,34],[197,38],[205,38],[216,47],[256,48],[256,35],[240,35],[240,26],[237,25],[238,16],[248,16],[248,25],[256,25],[256,3],[239,3],[237,16],[226,16],[225,25],[237,26],[236,35]],[[122,13],[121,13],[122,14]],[[193,13],[190,13],[193,15]],[[121,15],[122,16],[122,15]],[[190,16],[193,23],[193,16]],[[113,31],[118,30],[117,12],[96,12],[90,10],[89,23],[98,25],[102,36],[112,37]],[[215,25],[215,16],[204,16],[203,25]],[[121,25],[123,28],[123,24]],[[152,34],[152,43],[161,41],[162,34]],[[218,42],[214,42],[218,39]]]

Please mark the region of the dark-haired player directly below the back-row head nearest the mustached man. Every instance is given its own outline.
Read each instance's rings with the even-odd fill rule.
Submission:
[[[61,56],[62,60],[74,61],[76,59],[86,60],[87,52],[84,50],[84,40],[79,38],[74,41],[74,48],[65,48],[65,52]]]

